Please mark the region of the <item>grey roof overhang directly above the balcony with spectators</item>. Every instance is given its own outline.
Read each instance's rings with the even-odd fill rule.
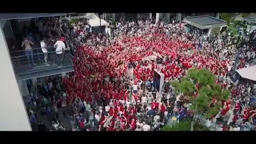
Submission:
[[[66,13],[1,13],[0,19],[28,19],[40,17],[64,16]]]

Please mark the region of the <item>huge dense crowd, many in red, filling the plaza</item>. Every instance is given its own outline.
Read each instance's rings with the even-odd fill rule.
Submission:
[[[72,26],[74,73],[66,74],[62,87],[62,78],[56,77],[55,84],[47,80],[48,85],[40,88],[46,91],[39,93],[44,96],[38,101],[41,114],[53,115],[48,118],[53,129],[48,129],[66,130],[59,114],[70,119],[70,130],[85,131],[159,131],[182,122],[193,112],[170,82],[194,67],[210,70],[232,92],[215,120],[208,120],[210,125],[215,130],[254,130],[254,85],[231,77],[234,65],[249,66],[244,59],[255,53],[245,46],[250,55],[242,50],[238,56],[232,34],[207,36],[188,32],[182,23],[149,20],[118,23],[107,34],[92,33],[90,23]],[[154,70],[169,83],[160,94],[154,87]],[[38,123],[34,117],[30,112],[31,122]]]

